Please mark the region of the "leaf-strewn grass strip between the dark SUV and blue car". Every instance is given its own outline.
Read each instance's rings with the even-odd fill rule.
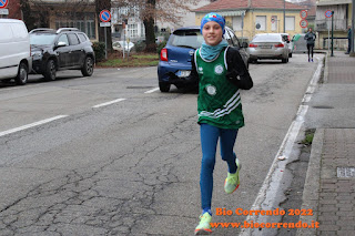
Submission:
[[[135,68],[135,66],[155,66],[159,63],[156,53],[132,53],[123,59],[122,53],[113,52],[109,54],[108,60],[98,62],[98,68]]]

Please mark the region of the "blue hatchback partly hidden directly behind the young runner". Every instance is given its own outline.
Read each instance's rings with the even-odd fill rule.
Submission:
[[[231,47],[239,49],[244,63],[248,66],[247,43],[240,44],[234,32],[225,27],[223,38]],[[161,50],[158,65],[158,80],[161,92],[169,92],[171,84],[176,88],[196,86],[196,81],[186,80],[192,70],[192,55],[202,45],[200,27],[185,27],[175,30]],[[176,79],[178,76],[178,79]]]

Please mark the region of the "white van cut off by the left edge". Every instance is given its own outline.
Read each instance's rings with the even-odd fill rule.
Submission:
[[[30,37],[21,20],[0,19],[0,80],[26,84],[32,70]]]

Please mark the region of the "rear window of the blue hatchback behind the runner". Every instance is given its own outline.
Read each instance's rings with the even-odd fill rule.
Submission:
[[[203,42],[200,30],[176,30],[171,34],[169,44],[174,47],[199,49]]]

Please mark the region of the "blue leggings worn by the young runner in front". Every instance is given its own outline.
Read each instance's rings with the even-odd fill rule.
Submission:
[[[217,142],[220,138],[221,156],[229,165],[229,172],[236,172],[235,153],[233,152],[236,130],[226,130],[215,127],[210,124],[201,124],[201,147],[202,162],[200,173],[200,188],[201,188],[201,206],[202,209],[211,209],[212,192],[213,192],[213,170],[215,164],[215,153]]]

